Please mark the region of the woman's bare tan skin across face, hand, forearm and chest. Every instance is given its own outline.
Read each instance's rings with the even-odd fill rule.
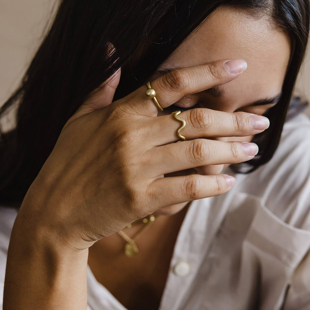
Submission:
[[[200,199],[227,192],[231,187],[219,175],[225,164],[254,156],[246,155],[240,143],[222,142],[253,138],[249,115],[238,114],[243,126],[241,131],[236,131],[232,112],[263,114],[270,108],[272,105],[247,106],[278,95],[289,56],[289,38],[268,20],[255,19],[232,8],[219,10],[158,68],[199,65],[178,71],[191,82],[186,89],[170,87],[165,78],[154,80],[158,72],[148,79],[164,108],[177,100],[176,105],[192,106],[195,98],[202,108],[209,108],[213,126],[207,132],[191,127],[188,111],[179,115],[188,124],[182,133],[194,140],[176,144],[171,142],[177,140],[174,130],[179,124],[168,115],[170,112],[158,113],[153,101],[146,98],[146,81],[132,94],[112,102],[119,79],[116,74],[113,82],[92,101],[83,104],[65,124],[55,148],[24,198],[11,233],[3,308],[85,309],[88,259],[92,260],[95,277],[100,279],[101,272],[99,281],[127,308],[138,309],[126,300],[131,292],[137,292],[134,284],[138,288],[145,283],[156,286],[155,297],[139,296],[141,300],[146,299],[144,308],[150,299],[158,299],[187,211],[185,206],[193,200],[189,196]],[[248,64],[246,71],[228,75],[223,61],[240,58]],[[212,61],[218,62],[205,65]],[[222,98],[206,95],[203,91],[209,84],[224,84],[225,95]],[[184,91],[192,95],[184,98]],[[206,115],[206,109],[201,110]],[[223,118],[225,121],[221,121]],[[218,141],[199,139],[206,136]],[[203,158],[203,162],[210,160],[212,165],[197,167],[196,163],[201,161],[184,157],[187,148],[193,150],[197,140],[196,146],[214,146],[212,156]],[[237,148],[236,157],[229,152],[231,145]],[[196,167],[167,171],[173,165]],[[162,178],[162,171],[166,171],[165,176],[192,176]],[[184,180],[188,179],[199,182],[190,187],[190,193],[185,193],[180,189],[188,189],[184,187],[188,184]],[[149,180],[151,185],[146,184]],[[170,201],[182,203],[173,205]],[[169,216],[159,216],[139,238],[139,255],[129,261],[123,254],[124,242],[116,232],[151,213]],[[138,226],[132,227],[131,236]],[[121,271],[117,272],[120,270],[117,268]]]

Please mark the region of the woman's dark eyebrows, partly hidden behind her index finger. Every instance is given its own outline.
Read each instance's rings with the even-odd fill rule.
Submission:
[[[157,70],[156,73],[159,76],[161,76],[161,75],[164,75],[164,74],[171,72],[173,70],[182,69],[182,68],[184,68],[184,67],[165,68],[165,69]],[[223,86],[214,86],[214,87],[211,87],[211,88],[204,90],[203,92],[212,96],[213,98],[217,98],[217,99],[222,98],[225,95],[225,90],[224,90]],[[280,97],[281,97],[281,93],[272,97],[272,98],[259,99],[259,100],[256,100],[255,102],[252,102],[251,104],[248,104],[247,107],[277,103],[279,101]]]

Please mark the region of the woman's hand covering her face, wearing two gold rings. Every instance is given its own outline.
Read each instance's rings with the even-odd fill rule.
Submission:
[[[151,85],[158,102],[165,108],[184,95],[237,78],[239,73],[229,73],[223,63],[182,68],[157,78]],[[232,186],[225,175],[164,174],[250,160],[256,144],[249,144],[254,148],[246,153],[241,142],[199,137],[263,131],[252,127],[249,113],[197,108],[179,114],[186,121],[182,134],[187,140],[172,143],[179,140],[180,122],[170,114],[156,117],[158,109],[146,97],[146,85],[111,103],[119,76],[120,71],[65,124],[20,208],[35,214],[36,225],[59,242],[76,249],[86,249],[162,207],[227,192]]]

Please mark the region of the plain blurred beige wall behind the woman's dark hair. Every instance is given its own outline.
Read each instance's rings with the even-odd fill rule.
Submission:
[[[56,9],[57,0],[0,0],[0,106],[18,86]],[[310,49],[295,91],[310,100]]]

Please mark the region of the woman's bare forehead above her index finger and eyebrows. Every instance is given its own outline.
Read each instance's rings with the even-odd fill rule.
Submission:
[[[281,92],[290,39],[267,17],[254,18],[239,9],[220,7],[159,69],[239,58],[246,60],[248,67],[224,85],[223,104],[229,99],[242,106],[274,97]]]

